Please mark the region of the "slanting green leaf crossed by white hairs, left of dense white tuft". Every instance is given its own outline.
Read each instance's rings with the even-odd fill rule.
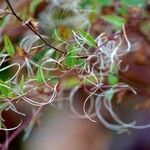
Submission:
[[[96,45],[94,38],[88,32],[85,32],[85,31],[80,29],[79,34],[89,46],[95,46]]]

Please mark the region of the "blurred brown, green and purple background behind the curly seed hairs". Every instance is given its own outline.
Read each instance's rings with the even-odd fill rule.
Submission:
[[[57,0],[56,0],[57,2]],[[130,68],[126,72],[119,71],[117,76],[112,75],[108,77],[108,83],[110,85],[116,84],[119,81],[128,83],[134,86],[140,95],[132,96],[130,93],[121,93],[116,95],[116,99],[119,104],[114,101],[117,105],[116,110],[125,118],[136,117],[138,120],[149,119],[149,98],[150,98],[150,1],[149,0],[59,0],[58,3],[53,5],[48,0],[12,0],[12,6],[16,10],[17,14],[23,19],[28,20],[31,18],[33,23],[38,22],[38,31],[40,34],[46,36],[48,41],[52,45],[56,45],[58,48],[65,49],[62,41],[72,41],[73,33],[72,30],[77,31],[81,36],[90,33],[87,37],[87,45],[93,46],[93,39],[96,38],[100,33],[107,32],[112,34],[115,31],[121,30],[122,24],[125,24],[127,35],[132,44],[133,53],[127,54],[123,58],[122,68],[126,64],[130,65]],[[0,0],[0,9],[6,9],[7,5],[5,1]],[[18,20],[11,15],[2,14],[0,15],[0,51],[6,49],[7,54],[10,57],[14,57],[14,60],[20,61],[18,56],[23,55],[23,50],[19,47],[21,40],[29,34],[29,30],[22,26]],[[59,38],[62,41],[60,41]],[[32,39],[31,39],[32,40]],[[41,44],[41,41],[37,41]],[[37,44],[36,43],[36,44]],[[36,45],[35,44],[35,45]],[[40,63],[45,54],[49,53],[50,48],[45,46],[40,49],[39,53],[33,55],[34,62]],[[76,56],[75,45],[67,47],[67,59],[64,64],[67,69],[71,69],[76,64],[83,64],[82,60],[73,59],[72,56]],[[55,51],[49,54],[52,58],[59,58],[59,54]],[[12,59],[12,61],[14,61]],[[10,62],[6,62],[0,66],[8,66]],[[121,68],[121,69],[122,69]],[[5,81],[12,76],[14,70],[7,69],[0,72],[0,83],[6,84]],[[42,71],[38,70],[37,80],[42,82]],[[76,78],[71,78],[72,74],[64,81],[66,88],[72,88],[78,84]],[[57,80],[55,78],[55,80]],[[55,82],[54,80],[54,82]],[[7,88],[0,86],[0,96],[13,97]],[[81,95],[79,97],[84,98],[84,91],[81,89]],[[82,95],[83,94],[83,95]],[[82,99],[82,98],[81,98]],[[83,101],[83,99],[82,99]],[[77,107],[82,102],[77,102]],[[117,103],[117,104],[116,104]],[[28,110],[29,106],[24,104],[18,108],[23,109],[27,114],[31,114],[31,110]],[[119,108],[118,108],[119,105]],[[5,106],[1,106],[5,108]],[[131,108],[132,107],[132,108]],[[129,110],[131,108],[131,111]],[[66,113],[66,112],[65,112]],[[51,116],[50,116],[51,114]],[[45,129],[41,129],[41,133],[34,128],[33,134],[31,134],[26,142],[22,142],[21,132],[10,144],[10,150],[40,150],[39,143],[41,141],[45,144],[41,144],[44,150],[149,150],[150,143],[148,141],[150,134],[149,129],[143,131],[133,131],[131,135],[116,135],[111,131],[106,131],[104,127],[99,125],[98,122],[95,126],[89,121],[79,121],[77,124],[76,120],[68,120],[67,115],[62,118],[67,118],[65,121],[60,119],[60,112],[53,110],[53,108],[46,108],[43,111],[43,118],[41,119]],[[107,116],[107,114],[106,114]],[[50,117],[52,119],[50,119]],[[11,126],[18,122],[18,118],[11,112],[4,112],[4,118],[6,118],[6,124]],[[111,120],[107,116],[108,120]],[[58,119],[58,121],[57,121]],[[40,120],[40,119],[39,119]],[[40,124],[37,119],[37,126]],[[130,120],[130,119],[129,119]],[[39,122],[38,122],[39,121]],[[141,121],[141,122],[142,122]],[[143,121],[143,122],[144,122]],[[54,122],[51,125],[51,122]],[[62,124],[62,128],[59,129],[58,125]],[[56,125],[56,127],[55,127]],[[70,138],[65,136],[66,125],[68,129],[71,128]],[[32,126],[32,125],[31,125]],[[32,126],[33,127],[33,126]],[[41,128],[43,128],[41,126]],[[79,130],[78,130],[79,129]],[[48,132],[49,135],[45,131]],[[53,132],[53,130],[56,132]],[[58,130],[58,131],[57,131]],[[77,132],[80,131],[80,132]],[[58,132],[60,134],[58,134]],[[72,133],[73,132],[73,133]],[[74,132],[77,132],[75,135]],[[132,132],[132,131],[131,131]],[[51,134],[52,133],[52,134]],[[13,132],[10,132],[10,135]],[[40,135],[41,134],[41,135]],[[82,136],[81,136],[82,134]],[[84,134],[84,135],[83,135]],[[46,138],[44,138],[46,135]],[[62,136],[63,135],[63,136]],[[1,142],[4,142],[4,133],[1,132]],[[21,137],[21,138],[20,138]],[[55,139],[66,139],[62,140],[63,143],[57,143]],[[67,137],[67,138],[66,138]],[[102,138],[103,137],[103,138]],[[92,138],[95,140],[93,141]],[[101,138],[103,140],[101,140]],[[70,141],[70,139],[73,139]],[[78,141],[80,139],[80,141]],[[46,142],[45,142],[45,141]],[[52,141],[49,143],[49,141]],[[92,142],[91,142],[92,140]],[[68,144],[69,143],[69,144]],[[72,143],[72,145],[70,144]],[[58,144],[58,147],[56,146]],[[65,144],[68,146],[65,149],[61,149],[61,146]],[[79,147],[76,147],[76,146]],[[80,146],[81,145],[81,146]],[[82,145],[83,148],[82,148]],[[38,148],[39,147],[39,148]],[[52,147],[52,148],[50,148]]]

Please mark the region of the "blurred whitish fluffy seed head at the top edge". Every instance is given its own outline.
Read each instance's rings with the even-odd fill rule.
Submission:
[[[91,23],[88,19],[88,11],[82,11],[81,8],[78,8],[78,3],[80,0],[52,0],[50,2],[52,2],[52,4],[47,6],[45,12],[41,13],[39,19],[40,22],[42,22],[42,27],[44,29],[47,28],[47,25],[49,28],[55,28],[60,24],[78,28],[91,26]],[[53,17],[53,15],[58,11],[58,8],[63,9],[63,12],[59,18],[56,19]],[[63,15],[67,11],[71,11],[74,15],[62,19]]]

